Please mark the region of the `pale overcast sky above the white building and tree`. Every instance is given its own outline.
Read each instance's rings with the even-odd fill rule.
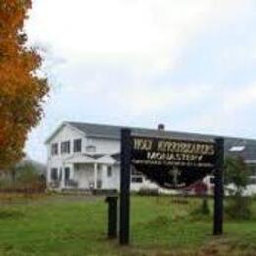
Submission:
[[[65,120],[256,138],[254,0],[34,0],[51,82],[26,152]]]

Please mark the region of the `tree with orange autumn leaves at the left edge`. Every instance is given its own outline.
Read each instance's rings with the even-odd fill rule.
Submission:
[[[23,156],[28,132],[42,116],[48,93],[38,52],[26,45],[24,22],[31,0],[0,0],[0,169]]]

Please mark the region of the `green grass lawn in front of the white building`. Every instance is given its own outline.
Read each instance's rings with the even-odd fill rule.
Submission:
[[[224,235],[213,237],[211,217],[190,214],[199,203],[132,197],[131,246],[120,247],[106,239],[102,197],[2,199],[0,255],[256,255],[256,214],[225,219]]]

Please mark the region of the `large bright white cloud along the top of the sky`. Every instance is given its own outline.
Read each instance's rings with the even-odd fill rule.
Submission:
[[[68,59],[165,69],[206,24],[221,25],[243,9],[239,0],[34,0],[27,30]]]

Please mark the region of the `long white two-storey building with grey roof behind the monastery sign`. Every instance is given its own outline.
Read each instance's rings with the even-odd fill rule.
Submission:
[[[120,126],[64,122],[46,140],[47,187],[52,190],[119,190],[120,186]],[[132,128],[145,136],[212,140],[217,136]],[[256,192],[256,140],[224,137],[224,154],[241,155],[250,166],[251,184]],[[209,179],[211,182],[211,178]],[[131,190],[162,190],[134,168]]]

